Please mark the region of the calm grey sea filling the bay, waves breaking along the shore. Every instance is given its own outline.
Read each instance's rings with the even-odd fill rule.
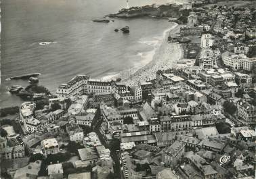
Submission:
[[[129,6],[171,3],[171,0],[129,0]],[[3,0],[1,1],[0,107],[20,105],[9,86],[26,80],[5,80],[39,72],[39,83],[55,94],[59,84],[77,74],[108,78],[151,61],[171,26],[153,18],[92,20],[119,11],[126,0]],[[114,32],[130,27],[129,34]],[[41,42],[54,42],[41,45]]]

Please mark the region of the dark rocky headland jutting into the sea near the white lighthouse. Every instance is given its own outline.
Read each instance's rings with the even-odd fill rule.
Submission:
[[[121,9],[116,14],[109,14],[110,18],[137,18],[137,17],[153,17],[153,18],[179,18],[182,16],[180,5],[145,5],[142,7],[131,7],[129,9]]]

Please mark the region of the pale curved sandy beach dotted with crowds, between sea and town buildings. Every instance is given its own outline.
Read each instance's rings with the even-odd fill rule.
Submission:
[[[146,82],[152,80],[156,76],[158,70],[167,70],[173,66],[179,59],[183,58],[182,46],[179,43],[168,43],[167,38],[169,34],[176,34],[182,25],[176,24],[174,28],[165,32],[160,47],[156,49],[156,53],[152,61],[140,69],[129,69],[120,73],[122,82],[129,86],[137,85],[138,82]]]

